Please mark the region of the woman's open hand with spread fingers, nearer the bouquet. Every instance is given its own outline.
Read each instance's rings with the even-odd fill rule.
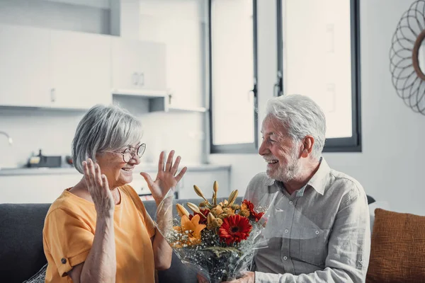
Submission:
[[[164,155],[164,151],[159,154],[158,173],[155,180],[152,180],[150,175],[146,172],[140,173],[140,175],[145,178],[147,185],[149,186],[149,190],[152,192],[152,197],[154,197],[154,200],[157,202],[157,204],[162,201],[171,187],[176,187],[177,183],[179,183],[184,173],[186,173],[186,170],[188,169],[187,167],[184,167],[181,169],[180,173],[177,174],[181,157],[177,156],[176,161],[173,164],[174,150],[170,152],[168,158],[166,159],[164,168]]]

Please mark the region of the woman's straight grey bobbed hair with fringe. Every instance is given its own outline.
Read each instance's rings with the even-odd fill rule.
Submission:
[[[82,162],[103,151],[117,151],[134,146],[142,139],[142,123],[117,105],[95,105],[84,115],[72,140],[72,159],[83,174]]]

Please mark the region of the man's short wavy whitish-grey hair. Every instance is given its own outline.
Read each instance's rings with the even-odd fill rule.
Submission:
[[[314,137],[312,156],[320,158],[326,136],[326,118],[314,100],[300,94],[271,98],[266,107],[266,117],[269,115],[283,123],[294,141],[301,141],[308,134]]]

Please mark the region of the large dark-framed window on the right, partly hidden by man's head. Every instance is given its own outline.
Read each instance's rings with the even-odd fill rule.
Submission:
[[[324,151],[361,151],[358,0],[283,0],[279,8],[283,93],[322,107]]]

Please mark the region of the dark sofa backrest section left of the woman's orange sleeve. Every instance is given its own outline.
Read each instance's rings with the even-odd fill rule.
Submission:
[[[21,283],[47,262],[42,227],[50,204],[0,204],[0,281]]]

